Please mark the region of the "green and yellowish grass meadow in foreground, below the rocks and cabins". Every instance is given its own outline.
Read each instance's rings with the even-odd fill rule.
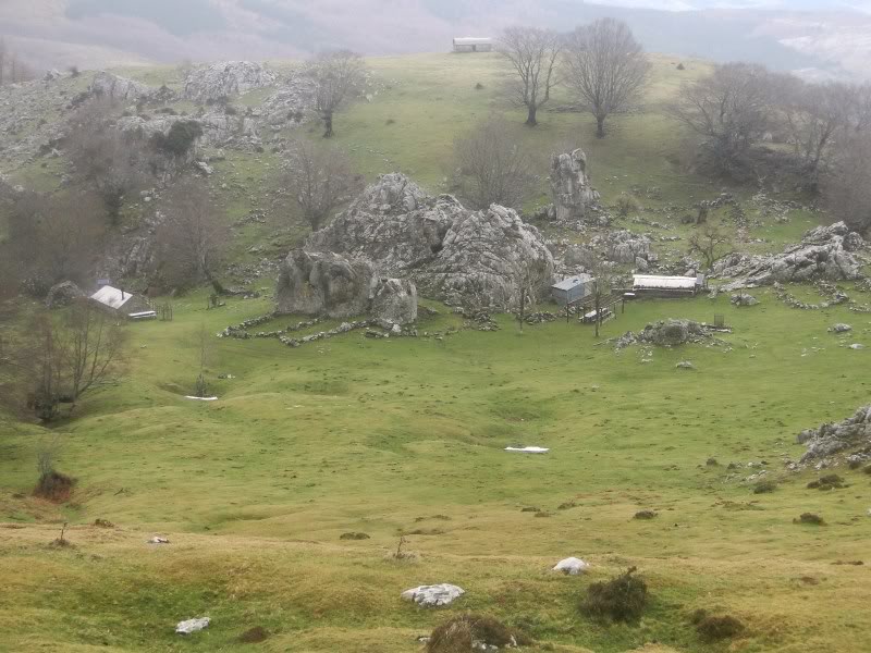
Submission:
[[[648,364],[565,323],[522,335],[503,322],[498,333],[442,342],[349,334],[299,349],[217,341],[210,377],[221,399],[210,405],[181,397],[200,324],[217,331],[267,306],[207,312],[180,303],[174,322],[132,326],[130,380],[59,428],[60,468],[79,478],[79,505],[63,518],[106,518],[120,530],[79,526],[69,535],[77,549],[47,547],[57,527],[45,522],[61,515],[10,496],[30,488],[40,436],[4,440],[2,518],[25,528],[0,531],[14,579],[0,630],[15,651],[103,640],[119,651],[245,650],[233,638],[254,625],[279,633],[267,650],[415,651],[413,636],[444,615],[398,593],[451,581],[469,591],[456,611],[493,612],[594,651],[650,641],[702,650],[686,624],[696,607],[744,618],[747,651],[867,648],[867,571],[832,563],[867,554],[869,477],[847,472],[851,488],[822,493],[803,488],[808,472],[753,495],[741,481],[752,470],[725,469],[766,460],[778,478],[782,458],[800,453],[796,432],[868,402],[864,354],[825,332],[851,321],[850,342],[868,343],[867,320],[762,299],[751,310],[725,298],[630,306],[605,335],[714,311],[735,325],[729,352],[657,350]],[[452,323],[442,316],[421,328]],[[674,369],[685,358],[696,372]],[[222,372],[235,378],[218,381]],[[552,453],[511,455],[508,444]],[[710,456],[721,466],[706,466]],[[566,502],[577,507],[557,509]],[[633,520],[641,508],[660,517]],[[793,525],[806,510],[829,526]],[[346,531],[371,540],[340,542]],[[413,531],[408,547],[420,558],[384,562]],[[154,532],[173,543],[146,545]],[[590,580],[545,572],[567,555],[591,559],[592,579],[638,565],[653,593],[642,625],[579,616]],[[173,623],[198,614],[214,627],[176,640]]]

